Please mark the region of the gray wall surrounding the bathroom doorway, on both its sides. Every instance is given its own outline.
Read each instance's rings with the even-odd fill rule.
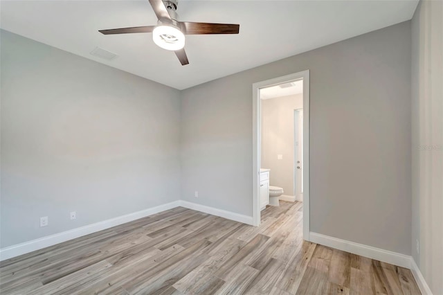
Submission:
[[[311,231],[410,254],[410,21],[183,90],[182,199],[252,215],[251,85],[306,69]]]

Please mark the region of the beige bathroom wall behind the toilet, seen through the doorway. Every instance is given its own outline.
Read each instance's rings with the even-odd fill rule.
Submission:
[[[294,196],[294,109],[303,106],[303,95],[261,101],[261,166],[271,169],[271,186],[280,186],[284,195]],[[283,159],[277,159],[281,154]]]

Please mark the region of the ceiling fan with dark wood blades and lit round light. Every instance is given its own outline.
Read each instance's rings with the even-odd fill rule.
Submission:
[[[179,21],[177,15],[178,0],[149,0],[152,9],[157,16],[156,26],[136,26],[132,28],[112,28],[99,30],[104,35],[129,34],[129,33],[152,33],[154,43],[161,48],[174,51],[181,65],[189,64],[184,49],[185,35],[204,34],[238,34],[238,24],[210,24]]]

